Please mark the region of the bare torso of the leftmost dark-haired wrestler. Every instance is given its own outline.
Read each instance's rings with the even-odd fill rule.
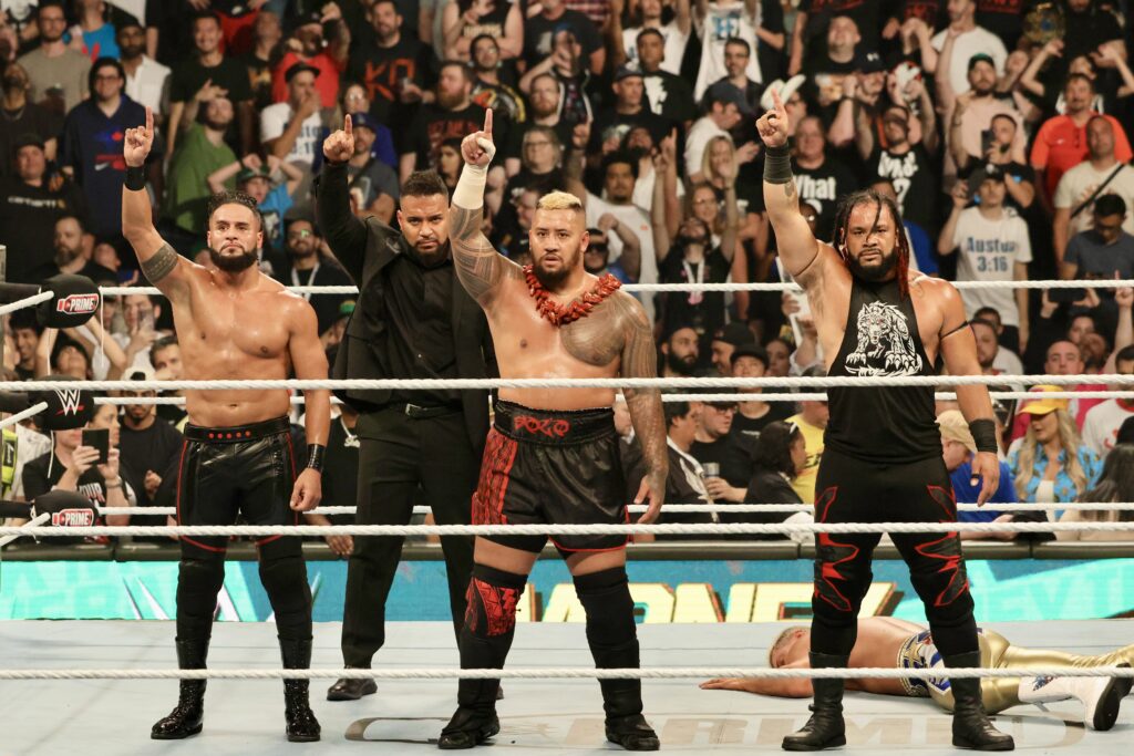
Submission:
[[[244,290],[226,289],[193,265],[184,287],[169,292],[189,381],[280,380],[291,371],[288,345],[304,300],[263,273]],[[285,389],[186,391],[189,422],[226,427],[288,414]]]

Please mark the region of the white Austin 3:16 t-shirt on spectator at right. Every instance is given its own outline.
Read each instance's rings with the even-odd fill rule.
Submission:
[[[958,281],[1012,281],[1016,263],[1032,262],[1032,245],[1027,224],[1012,209],[990,220],[976,207],[960,212],[953,233],[957,247]],[[981,307],[995,307],[1005,325],[1019,325],[1014,289],[966,289],[960,292],[965,316],[972,317]]]

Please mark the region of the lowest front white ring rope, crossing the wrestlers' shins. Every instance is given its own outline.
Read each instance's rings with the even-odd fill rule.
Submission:
[[[669,666],[655,669],[587,669],[575,666],[528,668],[528,669],[474,669],[455,668],[409,668],[409,669],[212,669],[212,670],[116,670],[116,669],[24,669],[0,670],[0,680],[442,680],[465,678],[467,680],[515,680],[532,678],[599,679],[599,680],[672,680],[684,678],[767,678],[772,680],[806,678],[826,679],[877,679],[877,680],[940,680],[942,678],[1026,678],[1026,677],[1074,677],[1074,678],[1134,678],[1134,669],[1118,666],[1021,666],[1015,669],[957,666],[932,669],[890,668],[820,668],[820,669],[772,669],[768,666]]]

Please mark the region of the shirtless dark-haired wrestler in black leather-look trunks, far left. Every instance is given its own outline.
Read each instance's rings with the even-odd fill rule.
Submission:
[[[209,205],[209,247],[214,269],[174,252],[151,221],[142,164],[153,144],[153,116],[127,129],[122,233],[142,272],[161,289],[174,312],[186,380],[325,379],[315,312],[302,297],[260,272],[263,241],[254,199],[225,193]],[[186,391],[189,424],[178,470],[179,525],[296,524],[314,509],[330,428],[330,393],[306,391],[307,466],[295,469],[288,392]],[[298,473],[298,477],[297,477]],[[223,536],[181,536],[177,576],[177,661],[202,669],[209,651],[217,593],[225,580]],[[276,612],[280,654],[287,669],[311,665],[311,589],[299,538],[256,542],[260,579]],[[307,681],[285,680],[287,737],[319,740],[307,705]],[[181,680],[177,707],[153,725],[159,740],[186,738],[202,727],[204,680]]]

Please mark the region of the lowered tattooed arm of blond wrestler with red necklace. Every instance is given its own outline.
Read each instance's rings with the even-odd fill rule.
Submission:
[[[621,377],[657,377],[658,358],[653,346],[650,318],[637,299],[625,292],[611,298],[611,304],[623,308],[619,318],[625,334],[621,355]],[[661,411],[661,391],[658,389],[624,389],[626,408],[631,414],[634,434],[642,445],[645,476],[634,503],[649,495],[650,509],[640,523],[652,523],[661,513],[666,499],[666,476],[669,474],[669,450],[666,444],[666,416]]]

